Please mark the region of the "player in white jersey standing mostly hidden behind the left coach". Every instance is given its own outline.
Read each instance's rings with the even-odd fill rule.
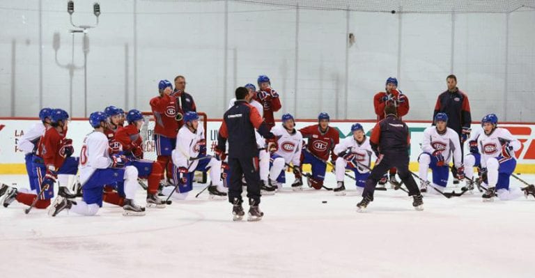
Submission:
[[[256,87],[250,83],[245,85],[244,87],[247,88],[247,91],[249,91],[249,95],[253,96],[251,97],[251,101],[249,102],[249,104],[255,107],[256,110],[258,110],[258,114],[260,114],[261,118],[263,118],[264,108],[262,104],[254,98],[254,95],[256,95]],[[228,102],[228,109],[234,106],[235,101],[236,98],[233,98],[230,102]],[[260,172],[260,179],[262,181],[261,189],[263,190],[263,192],[272,192],[275,190],[275,188],[270,187],[267,181],[268,176],[270,175],[270,153],[265,150],[265,139],[261,136],[261,134],[258,133],[257,130],[255,130],[254,135],[256,137],[256,145],[258,146],[258,168]],[[226,170],[227,183],[230,182],[230,176],[228,176],[228,172],[229,171]],[[242,180],[245,183],[245,179]]]

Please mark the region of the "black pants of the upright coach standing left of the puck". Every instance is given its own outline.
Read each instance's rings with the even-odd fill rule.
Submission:
[[[231,174],[231,184],[228,185],[228,201],[242,203],[242,176],[247,182],[247,197],[250,206],[260,203],[260,173],[258,172],[258,156],[245,158],[228,157],[228,168]]]

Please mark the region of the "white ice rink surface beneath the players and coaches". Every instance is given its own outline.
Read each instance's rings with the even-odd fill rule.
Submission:
[[[261,222],[233,222],[227,201],[194,198],[204,186],[144,217],[109,204],[93,217],[0,207],[1,277],[534,277],[533,198],[425,196],[416,211],[404,192],[388,190],[357,213],[346,180],[347,196],[284,188],[263,196]],[[140,187],[139,203],[145,196]]]

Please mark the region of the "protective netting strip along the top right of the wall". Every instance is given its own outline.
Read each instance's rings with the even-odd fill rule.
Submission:
[[[239,0],[270,6],[299,7],[314,10],[392,11],[403,13],[511,13],[535,9],[535,0]]]

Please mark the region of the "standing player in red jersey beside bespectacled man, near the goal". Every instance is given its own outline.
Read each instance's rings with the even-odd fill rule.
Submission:
[[[161,80],[158,84],[160,95],[150,100],[156,124],[154,126],[154,141],[156,145],[157,162],[166,170],[168,183],[173,180],[173,162],[171,152],[176,147],[176,134],[183,125],[183,114],[177,106],[173,93],[173,85],[169,80]]]

